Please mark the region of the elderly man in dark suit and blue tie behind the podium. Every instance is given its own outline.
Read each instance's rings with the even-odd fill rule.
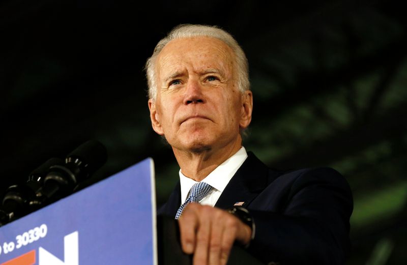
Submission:
[[[353,202],[343,177],[330,168],[272,170],[242,146],[253,96],[230,34],[177,26],[146,69],[153,129],[181,168],[159,214],[179,220],[194,264],[225,264],[234,243],[264,262],[344,262]]]

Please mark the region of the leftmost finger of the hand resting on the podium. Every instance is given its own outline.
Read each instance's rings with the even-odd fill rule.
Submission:
[[[187,254],[192,254],[195,249],[196,234],[195,231],[199,225],[198,215],[196,213],[196,207],[193,205],[195,203],[188,204],[180,219],[178,219],[178,224],[180,227],[180,240],[182,250]]]

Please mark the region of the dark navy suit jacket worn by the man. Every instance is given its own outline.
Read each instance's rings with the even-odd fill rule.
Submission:
[[[268,168],[251,152],[227,184],[215,207],[244,202],[255,222],[248,251],[265,263],[343,264],[350,249],[349,185],[332,168],[295,171]],[[158,214],[175,217],[180,183]]]

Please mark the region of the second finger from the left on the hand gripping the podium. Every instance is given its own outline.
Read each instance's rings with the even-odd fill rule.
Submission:
[[[211,214],[213,208],[210,206],[200,205],[199,209],[199,226],[196,231],[196,244],[193,256],[194,265],[207,265],[208,264],[208,250],[211,236]]]

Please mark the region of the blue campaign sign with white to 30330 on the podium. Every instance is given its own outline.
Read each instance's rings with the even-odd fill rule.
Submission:
[[[153,160],[0,227],[0,265],[33,264],[156,265]]]

